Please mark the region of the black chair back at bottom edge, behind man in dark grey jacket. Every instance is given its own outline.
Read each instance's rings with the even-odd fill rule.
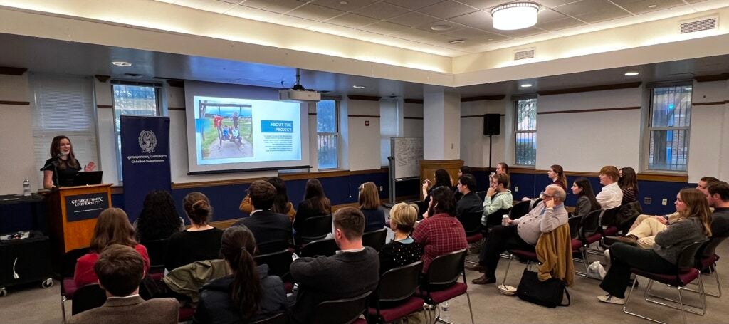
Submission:
[[[367,323],[359,316],[367,313],[367,300],[372,292],[368,291],[354,298],[322,301],[314,308],[315,324]]]

